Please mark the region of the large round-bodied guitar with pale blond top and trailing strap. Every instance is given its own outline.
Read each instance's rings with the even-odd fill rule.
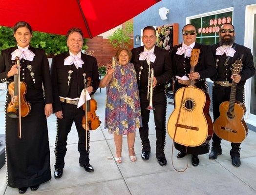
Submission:
[[[199,49],[192,49],[190,73],[194,72],[199,53]],[[213,134],[212,130],[208,132],[209,127],[213,129],[209,95],[196,88],[194,80],[190,79],[188,86],[177,90],[174,102],[175,108],[168,120],[168,133],[173,141],[191,147],[202,145],[206,140],[209,142]]]

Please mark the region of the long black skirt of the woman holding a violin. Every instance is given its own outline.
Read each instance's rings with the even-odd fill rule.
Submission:
[[[13,188],[30,187],[51,179],[44,102],[32,103],[29,115],[21,118],[21,139],[18,121],[5,115],[6,179]]]

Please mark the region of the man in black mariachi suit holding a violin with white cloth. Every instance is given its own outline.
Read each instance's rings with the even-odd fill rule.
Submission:
[[[81,52],[84,44],[81,29],[71,28],[67,32],[66,41],[69,51],[55,56],[51,66],[53,112],[57,117],[55,178],[60,178],[63,175],[67,135],[74,121],[79,137],[79,164],[85,168],[86,172],[94,171],[89,164],[89,132],[85,134],[85,129],[82,126],[84,110],[82,107],[77,108],[77,104],[81,91],[85,88],[86,78],[90,77],[92,79],[91,86],[87,87],[89,94],[94,94],[99,87],[97,61],[94,57]],[[87,136],[85,137],[85,135]]]

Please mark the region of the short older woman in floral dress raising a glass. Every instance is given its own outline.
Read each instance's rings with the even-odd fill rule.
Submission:
[[[107,74],[100,82],[101,88],[107,86],[105,128],[108,133],[114,134],[117,163],[122,162],[123,135],[127,135],[130,160],[137,160],[134,152],[135,132],[136,128],[142,126],[136,73],[133,64],[129,63],[131,55],[128,49],[119,49],[115,69],[109,64]]]

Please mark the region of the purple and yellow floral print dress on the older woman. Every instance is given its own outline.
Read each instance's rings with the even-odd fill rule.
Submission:
[[[132,63],[117,64],[106,91],[105,128],[127,135],[142,126],[136,72]]]

